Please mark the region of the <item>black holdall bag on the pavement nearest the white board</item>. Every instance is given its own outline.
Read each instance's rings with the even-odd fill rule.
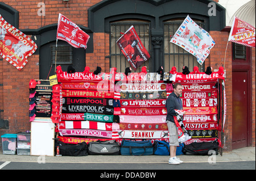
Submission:
[[[59,146],[60,155],[62,156],[86,156],[88,155],[88,148],[86,142],[80,142],[79,144],[65,144],[62,141],[55,141],[55,151]],[[56,152],[57,153],[57,152]]]

